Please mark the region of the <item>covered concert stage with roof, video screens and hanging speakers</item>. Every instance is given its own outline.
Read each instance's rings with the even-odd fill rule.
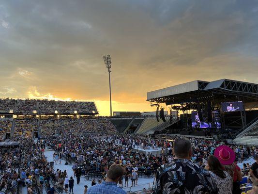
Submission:
[[[181,112],[178,129],[240,131],[257,117],[258,84],[228,79],[191,81],[148,92],[147,101],[157,107],[166,103],[171,110]]]

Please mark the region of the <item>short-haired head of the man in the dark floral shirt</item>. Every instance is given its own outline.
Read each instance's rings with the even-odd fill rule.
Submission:
[[[186,158],[192,149],[192,144],[187,138],[177,138],[173,142],[173,153],[177,158]]]

